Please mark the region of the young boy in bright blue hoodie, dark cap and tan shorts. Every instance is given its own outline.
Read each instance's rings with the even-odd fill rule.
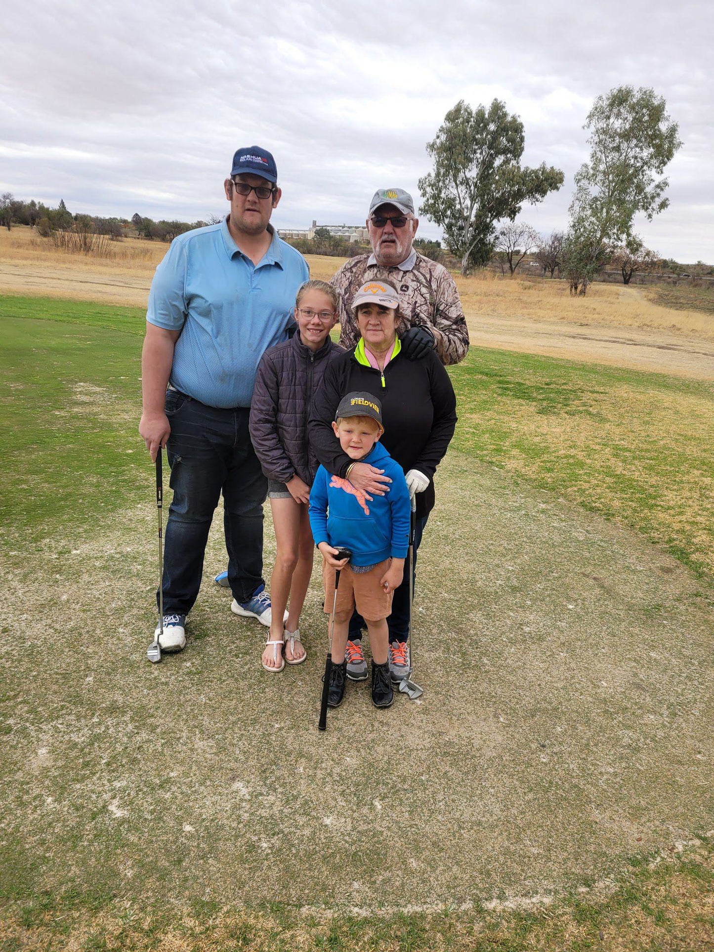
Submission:
[[[387,662],[387,616],[391,612],[392,593],[404,577],[409,543],[409,490],[402,467],[379,442],[385,428],[382,405],[375,396],[348,393],[337,407],[332,429],[350,459],[383,469],[391,484],[384,496],[371,498],[355,489],[348,479],[330,476],[325,466],[320,466],[310,490],[310,528],[325,560],[327,614],[332,611],[335,569],[341,570],[327,704],[337,707],[345,697],[348,623],[356,605],[367,623],[372,650],[372,703],[388,707],[394,692]],[[339,545],[351,550],[348,563],[335,559]]]

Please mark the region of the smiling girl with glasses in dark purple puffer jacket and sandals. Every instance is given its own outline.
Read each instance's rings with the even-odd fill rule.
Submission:
[[[286,662],[302,664],[306,659],[299,623],[315,550],[307,505],[319,466],[307,441],[307,420],[327,364],[344,352],[329,339],[338,311],[337,291],[327,282],[301,286],[295,301],[298,329],[290,340],[266,350],[250,404],[250,439],[268,477],[277,545],[270,579],[272,622],[263,652],[267,671],[282,671]]]

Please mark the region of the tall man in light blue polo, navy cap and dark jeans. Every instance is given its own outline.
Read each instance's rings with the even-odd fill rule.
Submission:
[[[288,338],[308,270],[269,224],[281,189],[268,151],[238,149],[225,188],[226,220],[174,238],[149,292],[139,432],[152,460],[167,446],[171,466],[165,651],[186,645],[186,616],[222,492],[231,608],[270,624],[263,579],[268,483],[250,443],[248,413],[258,362]]]

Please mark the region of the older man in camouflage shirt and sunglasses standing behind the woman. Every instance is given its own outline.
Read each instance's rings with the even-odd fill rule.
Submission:
[[[369,205],[367,230],[372,253],[350,258],[332,277],[340,293],[340,344],[350,349],[360,337],[351,310],[357,288],[370,279],[391,281],[407,322],[402,347],[418,359],[436,349],[444,364],[458,364],[468,350],[468,328],[456,283],[443,265],[412,248],[419,219],[403,188],[380,188]]]

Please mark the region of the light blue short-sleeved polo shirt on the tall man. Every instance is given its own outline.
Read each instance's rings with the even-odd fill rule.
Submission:
[[[258,265],[225,220],[174,238],[147,311],[149,324],[181,331],[170,385],[209,407],[249,407],[258,362],[287,340],[295,293],[308,277],[305,258],[274,231]]]

